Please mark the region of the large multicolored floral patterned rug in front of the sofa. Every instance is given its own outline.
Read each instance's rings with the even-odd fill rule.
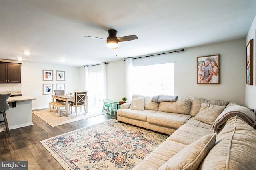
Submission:
[[[111,119],[40,142],[66,170],[130,170],[167,137]]]

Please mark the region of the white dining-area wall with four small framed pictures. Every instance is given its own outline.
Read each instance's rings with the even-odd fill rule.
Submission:
[[[32,100],[32,109],[47,108],[49,107],[49,102],[52,101],[52,95],[43,95],[43,84],[53,84],[53,88],[56,89],[56,83],[64,83],[66,93],[80,88],[79,67],[28,62],[21,63],[21,84],[0,84],[0,87],[6,87],[1,91],[19,90],[24,96],[35,97],[36,100]],[[42,70],[53,70],[54,81],[43,81]],[[56,81],[56,70],[65,71],[65,81]]]

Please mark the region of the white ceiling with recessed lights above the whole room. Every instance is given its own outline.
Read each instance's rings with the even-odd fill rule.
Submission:
[[[245,38],[255,16],[256,0],[0,0],[0,59],[115,61]],[[138,39],[112,50],[84,37],[107,38],[108,29]]]

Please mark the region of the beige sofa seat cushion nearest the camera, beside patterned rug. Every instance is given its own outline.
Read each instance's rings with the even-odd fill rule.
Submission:
[[[178,142],[164,141],[139,164],[132,168],[132,170],[147,170],[149,168],[157,170],[164,162],[168,161],[184,147],[186,147],[186,145]]]

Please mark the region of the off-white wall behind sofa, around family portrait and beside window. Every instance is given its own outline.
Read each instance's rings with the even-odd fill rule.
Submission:
[[[170,53],[174,60],[174,94],[220,99],[245,104],[245,39],[187,48]],[[197,84],[197,58],[220,54],[220,84]],[[156,56],[157,57],[157,56]],[[125,63],[108,62],[108,98],[122,99],[125,95]]]

